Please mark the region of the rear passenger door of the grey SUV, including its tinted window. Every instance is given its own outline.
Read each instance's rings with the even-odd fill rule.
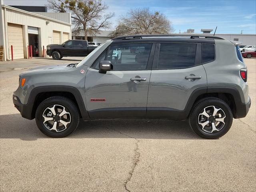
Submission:
[[[160,43],[156,45],[148,90],[148,117],[186,116],[193,91],[205,88],[201,44]]]

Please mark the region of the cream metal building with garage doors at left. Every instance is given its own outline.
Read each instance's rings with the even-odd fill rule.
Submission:
[[[48,44],[60,44],[71,39],[70,14],[33,13],[3,4],[0,0],[0,46],[3,60],[28,58],[28,46],[33,56],[43,56]]]

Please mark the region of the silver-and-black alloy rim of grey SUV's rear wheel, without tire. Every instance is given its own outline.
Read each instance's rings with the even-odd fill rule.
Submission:
[[[198,115],[198,124],[204,132],[214,133],[220,131],[225,125],[226,115],[217,106],[207,106]]]

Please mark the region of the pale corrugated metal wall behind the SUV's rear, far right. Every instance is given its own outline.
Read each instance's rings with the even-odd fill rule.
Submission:
[[[216,36],[232,41],[238,39],[238,41],[242,42],[242,45],[256,45],[256,34],[216,34]]]

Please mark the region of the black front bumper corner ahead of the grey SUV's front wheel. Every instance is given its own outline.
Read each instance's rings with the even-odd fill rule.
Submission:
[[[20,102],[20,99],[15,95],[12,96],[12,101],[13,101],[14,107],[18,109],[18,111],[20,112],[23,118],[26,118],[29,120],[32,120],[35,118],[34,115],[32,115],[32,110],[33,110],[32,103],[28,103],[26,105],[22,104]]]

